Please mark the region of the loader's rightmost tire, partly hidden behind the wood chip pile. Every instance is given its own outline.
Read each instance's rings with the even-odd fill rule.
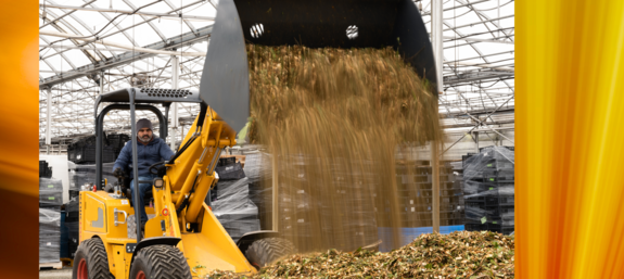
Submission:
[[[296,249],[292,242],[282,238],[266,238],[254,241],[245,251],[245,257],[260,269],[294,253]]]

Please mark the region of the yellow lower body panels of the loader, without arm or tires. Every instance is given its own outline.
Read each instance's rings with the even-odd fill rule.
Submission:
[[[167,190],[154,188],[154,200],[164,198],[170,201],[170,191]],[[165,213],[168,213],[166,216],[163,215],[165,208]],[[176,211],[170,208],[175,208],[170,202],[164,204],[160,212],[154,207],[145,207],[145,213],[155,217],[145,224],[144,239],[163,236],[181,238],[177,248],[184,254],[193,278],[214,269],[250,274],[256,270],[207,205],[203,205],[203,228],[200,232],[180,231]],[[128,230],[127,216],[133,214],[135,210],[127,199],[115,198],[104,191],[80,192],[80,242],[93,237],[102,240],[110,271],[115,278],[129,278],[132,250],[129,250],[128,245],[136,245],[136,239],[128,236],[132,230]]]

